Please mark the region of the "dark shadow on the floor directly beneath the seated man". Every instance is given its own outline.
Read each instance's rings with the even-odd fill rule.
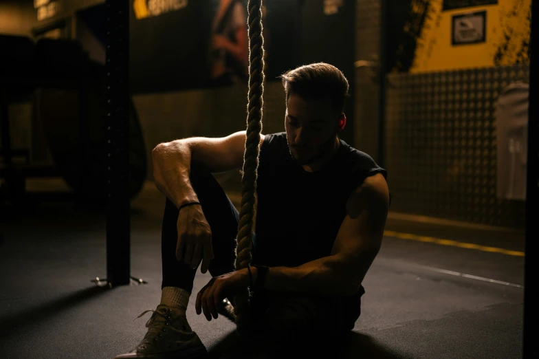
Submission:
[[[384,347],[370,336],[350,331],[345,338],[328,340],[311,338],[295,348],[272,342],[245,345],[236,334],[228,334],[208,351],[210,359],[278,359],[278,358],[331,358],[331,359],[409,359]],[[263,349],[265,348],[265,349]],[[271,348],[271,349],[269,349]]]

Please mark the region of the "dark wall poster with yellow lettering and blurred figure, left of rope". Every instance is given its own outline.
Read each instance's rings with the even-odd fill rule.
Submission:
[[[246,0],[133,0],[133,92],[245,83]]]

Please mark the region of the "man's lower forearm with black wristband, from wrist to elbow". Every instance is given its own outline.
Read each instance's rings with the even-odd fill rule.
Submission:
[[[254,274],[258,280],[258,272]],[[355,276],[338,256],[316,259],[299,267],[272,267],[267,271],[264,290],[321,296],[347,296],[357,292]]]

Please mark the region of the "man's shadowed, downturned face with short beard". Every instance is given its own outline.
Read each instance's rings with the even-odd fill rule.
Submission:
[[[309,165],[331,153],[344,114],[331,107],[331,100],[311,100],[290,94],[285,128],[289,151],[301,165]]]

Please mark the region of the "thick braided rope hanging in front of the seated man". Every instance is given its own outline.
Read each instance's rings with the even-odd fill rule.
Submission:
[[[252,229],[256,212],[256,170],[259,166],[259,144],[262,132],[264,82],[264,38],[262,36],[262,0],[249,0],[249,94],[247,139],[241,179],[241,209],[239,213],[236,248],[236,270],[247,268],[251,262]],[[236,326],[241,335],[248,324],[249,292],[247,289],[234,297]]]

